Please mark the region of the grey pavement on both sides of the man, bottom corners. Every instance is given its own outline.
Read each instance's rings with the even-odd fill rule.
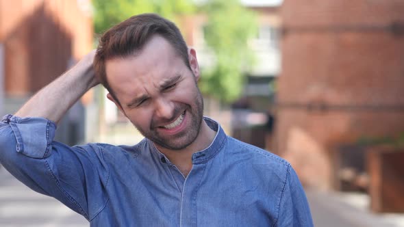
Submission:
[[[404,214],[375,214],[368,211],[368,196],[306,190],[314,226],[404,227]],[[57,200],[31,191],[4,168],[0,168],[1,227],[84,227],[84,217]]]

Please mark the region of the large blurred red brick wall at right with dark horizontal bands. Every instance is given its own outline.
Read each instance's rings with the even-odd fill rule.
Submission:
[[[389,30],[404,1],[286,0],[281,15],[276,151],[327,188],[336,145],[404,132],[404,33]]]

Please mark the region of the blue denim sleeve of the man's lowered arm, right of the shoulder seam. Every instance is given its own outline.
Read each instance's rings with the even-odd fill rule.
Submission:
[[[281,193],[276,226],[314,226],[305,191],[290,165]]]

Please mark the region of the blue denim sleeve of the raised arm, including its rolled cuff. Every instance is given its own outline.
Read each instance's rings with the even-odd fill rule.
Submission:
[[[34,191],[60,200],[90,221],[108,201],[109,171],[102,148],[54,142],[55,130],[56,124],[45,118],[5,116],[0,163]]]

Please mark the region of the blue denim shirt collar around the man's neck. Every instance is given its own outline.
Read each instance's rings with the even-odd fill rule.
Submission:
[[[212,141],[212,144],[210,144],[207,148],[198,152],[194,152],[194,154],[192,155],[193,164],[206,163],[207,161],[215,157],[223,148],[223,145],[225,144],[227,138],[225,131],[223,131],[218,122],[212,120],[212,118],[207,117],[203,117],[203,120],[205,120],[207,126],[209,126],[210,129],[216,131],[216,135]],[[149,146],[151,146],[152,152],[154,152],[161,161],[163,161],[164,163],[170,163],[167,157],[154,146],[151,140],[147,139],[147,141],[149,142]]]

